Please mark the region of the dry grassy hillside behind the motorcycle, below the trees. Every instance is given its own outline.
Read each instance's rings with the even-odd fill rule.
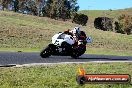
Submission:
[[[80,12],[88,14],[89,11]],[[90,19],[98,17],[102,12],[90,11]],[[113,11],[113,14],[116,12],[118,13],[118,11]],[[51,37],[55,33],[72,29],[75,26],[78,25],[70,21],[57,21],[46,17],[1,11],[0,51],[40,51],[51,42]],[[87,46],[87,49],[90,48],[91,51],[88,50],[87,53],[132,56],[132,35],[97,30],[93,27],[92,20],[89,20],[87,26],[80,27],[93,38],[93,43]]]

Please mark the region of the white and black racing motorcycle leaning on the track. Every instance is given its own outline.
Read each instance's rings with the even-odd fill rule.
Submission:
[[[72,35],[59,32],[52,37],[52,43],[40,52],[40,56],[42,58],[47,58],[51,55],[78,58],[85,53],[86,44],[91,42],[92,38],[87,37],[84,31],[81,31],[76,43]]]

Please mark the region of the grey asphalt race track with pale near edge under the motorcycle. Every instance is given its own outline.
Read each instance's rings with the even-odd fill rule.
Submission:
[[[86,63],[86,62],[132,62],[132,56],[110,56],[84,54],[78,59],[70,56],[51,56],[41,58],[39,52],[0,52],[0,67],[16,65],[41,65],[41,64],[64,64],[64,63]]]

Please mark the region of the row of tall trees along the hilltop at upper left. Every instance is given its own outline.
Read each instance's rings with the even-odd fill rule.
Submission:
[[[1,4],[3,10],[12,8],[15,12],[64,20],[79,10],[77,0],[2,0]]]

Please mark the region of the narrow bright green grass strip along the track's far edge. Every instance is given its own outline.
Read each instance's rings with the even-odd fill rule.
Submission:
[[[0,52],[40,52],[42,49],[39,49],[39,48],[0,48]],[[85,54],[132,56],[132,51],[111,50],[111,49],[104,49],[104,48],[87,48],[87,51],[85,52]]]

